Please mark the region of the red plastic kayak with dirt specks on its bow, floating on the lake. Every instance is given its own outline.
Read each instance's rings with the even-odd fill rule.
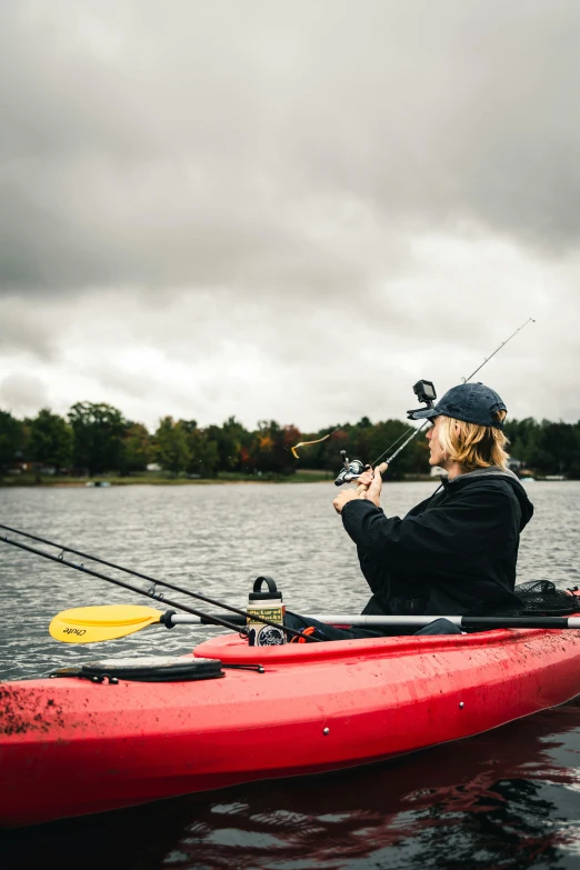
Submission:
[[[228,634],[193,657],[224,676],[0,684],[0,824],[379,761],[580,693],[574,630],[259,648]]]

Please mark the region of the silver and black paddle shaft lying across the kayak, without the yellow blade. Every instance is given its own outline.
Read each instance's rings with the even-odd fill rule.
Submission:
[[[211,614],[218,616],[218,614]],[[433,622],[436,619],[447,619],[458,628],[553,628],[553,629],[580,629],[580,616],[578,617],[366,617],[352,616],[348,613],[302,613],[303,619],[317,619],[319,622],[326,622],[327,626],[357,626],[367,628],[379,628],[381,626],[410,626],[422,628]],[[206,620],[194,619],[184,613],[171,614],[169,619],[172,626],[204,626],[209,624]],[[237,621],[232,617],[232,621]],[[240,624],[242,624],[240,620]]]

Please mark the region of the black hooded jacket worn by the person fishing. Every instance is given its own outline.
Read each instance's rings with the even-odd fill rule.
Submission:
[[[348,501],[342,522],[373,592],[363,612],[517,612],[520,531],[532,513],[517,477],[499,468],[444,480],[403,519],[371,501]]]

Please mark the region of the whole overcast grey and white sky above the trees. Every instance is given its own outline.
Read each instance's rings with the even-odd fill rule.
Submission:
[[[0,9],[0,408],[580,418],[578,0]]]

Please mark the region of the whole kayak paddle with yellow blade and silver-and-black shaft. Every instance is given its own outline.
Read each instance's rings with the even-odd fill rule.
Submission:
[[[302,614],[304,619],[317,619],[319,622],[326,622],[328,626],[357,626],[366,628],[379,627],[410,627],[421,628],[433,622],[436,619],[448,619],[459,628],[480,629],[482,631],[490,629],[513,629],[513,628],[537,628],[537,629],[579,629],[580,616],[578,617],[367,617],[352,616],[348,613],[312,613]],[[148,626],[156,623],[164,624],[167,628],[173,626],[208,626],[214,624],[220,618],[219,613],[208,613],[204,617],[194,617],[189,613],[174,613],[169,610],[163,613],[161,610],[153,610],[150,607],[141,604],[103,604],[100,607],[82,607],[72,610],[63,610],[51,621],[49,631],[56,640],[64,643],[94,643],[100,640],[113,640],[132,634]],[[230,621],[239,620],[239,624],[244,624],[241,617],[229,617]]]

